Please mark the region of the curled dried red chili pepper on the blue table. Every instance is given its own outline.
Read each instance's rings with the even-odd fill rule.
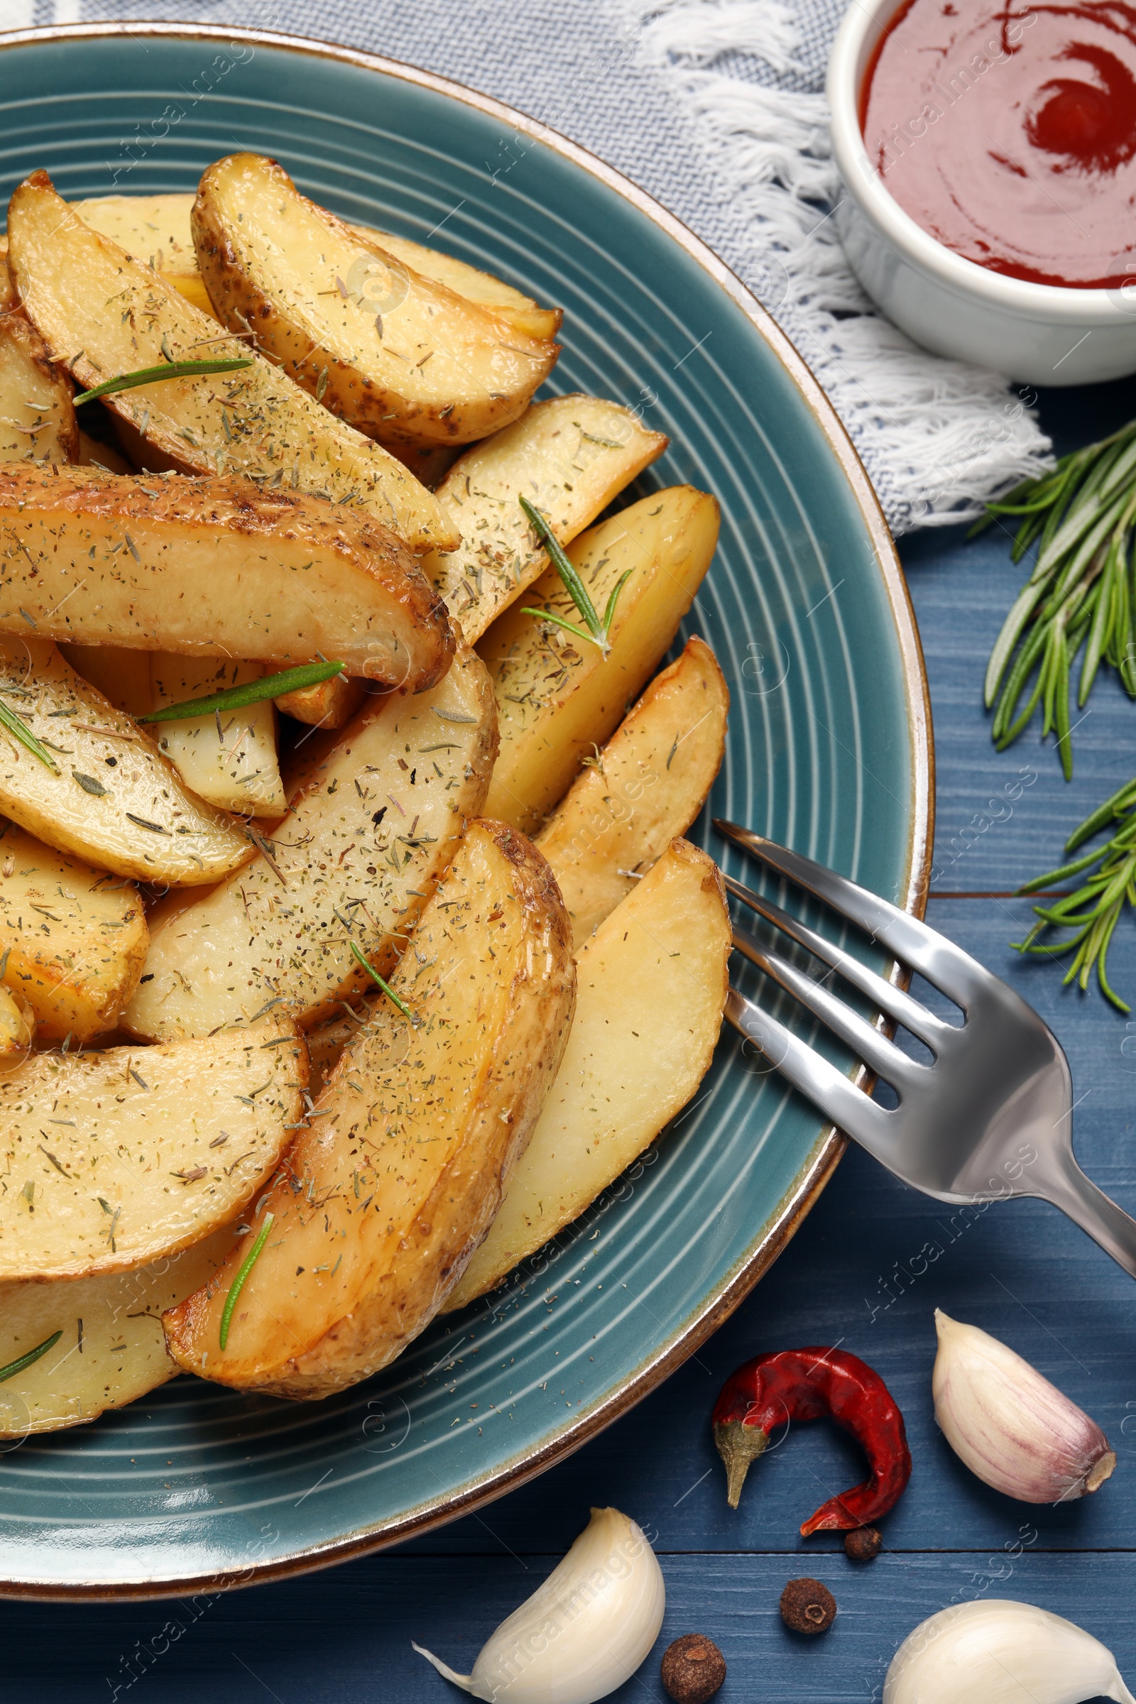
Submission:
[[[758,1355],[729,1375],[714,1404],[714,1442],[726,1462],[731,1508],[737,1508],[749,1464],[777,1426],[824,1418],[858,1440],[872,1472],[862,1486],[823,1503],[800,1535],[846,1532],[886,1515],[911,1477],[903,1414],[879,1373],[840,1350]]]

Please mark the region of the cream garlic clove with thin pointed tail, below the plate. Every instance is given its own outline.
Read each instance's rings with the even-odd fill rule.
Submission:
[[[617,1508],[593,1508],[564,1561],[501,1622],[472,1673],[414,1649],[475,1699],[594,1704],[635,1673],[659,1638],[664,1607],[663,1569],[640,1528]]]

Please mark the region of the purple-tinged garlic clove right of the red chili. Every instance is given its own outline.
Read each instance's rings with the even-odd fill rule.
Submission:
[[[935,1419],[959,1460],[1022,1503],[1068,1503],[1116,1467],[1100,1426],[1020,1355],[935,1309]]]

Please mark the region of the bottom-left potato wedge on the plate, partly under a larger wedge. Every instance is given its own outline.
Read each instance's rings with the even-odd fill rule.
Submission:
[[[177,1377],[162,1310],[209,1281],[233,1235],[227,1225],[150,1266],[97,1278],[0,1285],[0,1365],[61,1333],[46,1355],[0,1384],[0,1436],[82,1426]]]

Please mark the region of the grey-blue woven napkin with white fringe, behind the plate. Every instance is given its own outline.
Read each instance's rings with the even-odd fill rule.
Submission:
[[[453,77],[627,172],[756,291],[833,399],[896,532],[971,518],[1046,460],[1017,392],[872,310],[833,220],[821,94],[845,0],[0,0],[0,27],[184,19]],[[506,169],[501,157],[487,174]],[[119,189],[129,186],[119,184]]]

